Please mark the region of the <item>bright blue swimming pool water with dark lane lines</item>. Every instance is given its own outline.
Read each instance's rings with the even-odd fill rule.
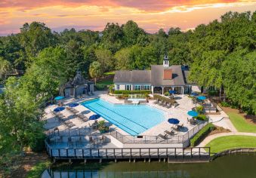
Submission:
[[[82,106],[101,115],[131,135],[139,135],[164,121],[164,112],[147,105],[119,105],[95,99],[85,101]]]

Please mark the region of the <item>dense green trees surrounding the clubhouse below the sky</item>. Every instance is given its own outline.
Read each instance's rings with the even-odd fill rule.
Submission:
[[[122,26],[107,23],[103,32],[58,33],[45,23],[25,23],[19,33],[0,37],[0,78],[24,72],[5,80],[0,96],[0,153],[36,147],[44,137],[39,118],[45,103],[76,71],[98,78],[119,69],[150,69],[166,54],[171,65],[190,66],[190,81],[221,90],[231,103],[254,114],[255,49],[256,11],[228,12],[187,32],[171,27],[154,34],[132,20]]]

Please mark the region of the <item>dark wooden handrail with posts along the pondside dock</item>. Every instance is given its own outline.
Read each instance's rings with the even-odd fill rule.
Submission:
[[[48,145],[46,140],[45,146],[48,155],[53,158],[160,158],[168,156],[177,158],[180,155],[210,158],[210,147],[54,149]],[[208,149],[208,152],[202,152],[205,149]]]

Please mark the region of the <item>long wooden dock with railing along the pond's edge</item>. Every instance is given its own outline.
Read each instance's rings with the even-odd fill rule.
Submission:
[[[83,159],[85,161],[90,159],[98,159],[100,162],[105,160],[119,160],[127,159],[135,161],[136,159],[158,159],[168,162],[202,162],[210,161],[209,147],[194,147],[194,148],[70,148],[70,149],[56,149],[45,144],[48,155],[54,160],[58,159]]]

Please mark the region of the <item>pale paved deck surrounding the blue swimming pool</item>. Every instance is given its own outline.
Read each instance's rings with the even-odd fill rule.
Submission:
[[[124,100],[118,100],[116,97],[112,97],[109,96],[108,94],[106,94],[106,92],[103,91],[97,91],[94,93],[94,96],[91,97],[84,97],[82,99],[65,99],[63,100],[63,104],[64,106],[68,103],[82,103],[86,100],[92,100],[94,98],[100,97],[103,100],[108,101],[109,103],[116,103],[116,104],[123,104]],[[157,136],[159,135],[159,133],[162,133],[163,135],[165,135],[164,131],[165,130],[171,130],[171,124],[168,123],[168,118],[177,118],[180,120],[180,124],[184,124],[184,127],[182,130],[180,130],[177,135],[178,136],[182,136],[184,134],[187,133],[188,130],[193,129],[193,125],[190,125],[187,123],[187,118],[189,118],[190,116],[187,115],[187,112],[190,111],[193,107],[195,107],[195,104],[193,104],[192,100],[187,96],[187,95],[177,95],[175,97],[175,100],[177,101],[177,103],[179,104],[176,108],[171,107],[170,109],[167,109],[165,107],[162,106],[158,106],[156,104],[154,104],[155,100],[150,100],[149,103],[147,103],[147,105],[152,106],[152,107],[156,107],[157,109],[161,109],[162,111],[165,112],[165,121],[162,121],[160,124],[157,124],[154,127],[151,127],[150,129],[144,131],[143,133],[140,133],[140,135],[147,135],[147,136]],[[45,129],[46,130],[51,130],[54,127],[57,127],[59,129],[59,131],[61,133],[66,133],[68,134],[69,129],[66,129],[66,127],[60,123],[60,121],[58,121],[56,118],[54,118],[54,115],[51,113],[54,108],[56,108],[57,105],[51,105],[48,106],[47,108],[45,108],[45,115],[44,115],[44,119],[46,121],[45,124]],[[94,115],[95,113],[92,111],[89,111],[87,108],[85,108],[85,106],[79,105],[76,106],[76,109],[81,112],[82,114],[86,115],[88,118],[91,115]],[[61,111],[60,113],[62,113],[65,118],[68,118],[69,121],[72,121],[73,124],[75,124],[74,127],[72,127],[72,130],[78,130],[79,132],[87,132],[86,134],[90,135],[90,134],[97,134],[99,133],[97,130],[88,130],[88,127],[94,123],[94,121],[80,121],[79,118],[76,118],[72,112],[69,112],[67,109],[64,109],[63,111]],[[216,121],[217,124],[221,124],[222,127],[226,127],[230,130],[232,130],[232,124],[230,124],[229,119],[225,119],[225,121],[219,121],[221,120],[222,117],[225,117],[226,114],[225,113],[221,113],[221,115],[209,115],[210,121]],[[106,121],[104,118],[99,118],[97,119],[98,121],[104,120]],[[227,121],[226,121],[227,120]],[[108,121],[106,121],[106,123],[109,123]],[[111,125],[111,123],[109,123],[109,125]],[[128,133],[126,133],[124,130],[120,129],[119,127],[116,127],[115,125],[111,125],[111,130],[116,130],[119,133],[122,133],[123,135],[129,135]],[[71,130],[70,129],[70,130]],[[107,147],[111,147],[111,146],[115,146],[115,144],[110,144],[107,145]],[[116,146],[115,146],[116,147]]]

